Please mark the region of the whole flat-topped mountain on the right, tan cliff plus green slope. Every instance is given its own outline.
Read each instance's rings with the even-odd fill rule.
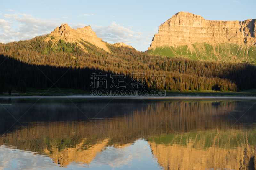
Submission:
[[[178,12],[159,26],[148,52],[193,60],[255,63],[256,19],[209,21]]]

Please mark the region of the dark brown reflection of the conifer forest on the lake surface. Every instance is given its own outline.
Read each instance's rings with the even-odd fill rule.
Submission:
[[[95,101],[99,103],[97,107],[93,104]],[[14,105],[6,106],[14,117],[20,117],[31,105],[29,101],[25,101],[24,99],[21,99],[19,103],[12,103],[11,100],[3,100],[1,102]],[[34,134],[36,139],[43,145],[37,143],[38,141],[35,141],[35,138],[32,136],[29,136],[26,129],[19,128],[20,124],[18,123],[8,133],[4,134],[0,143],[8,143],[9,145],[17,146],[19,149],[29,148],[33,152],[40,153],[44,147],[49,147],[48,145],[51,145],[50,143],[52,142],[56,142],[58,149],[62,150],[67,144],[67,147],[75,147],[76,144],[81,142],[81,138],[85,137],[88,138],[87,142],[89,143],[85,143],[84,147],[95,144],[98,140],[103,140],[106,137],[111,138],[111,143],[109,144],[129,144],[137,138],[148,137],[149,135],[158,136],[162,134],[188,133],[184,136],[184,141],[187,141],[187,137],[193,138],[196,131],[204,131],[205,129],[212,129],[213,132],[211,133],[213,135],[216,135],[216,129],[228,130],[230,126],[234,126],[234,128],[238,127],[239,129],[244,129],[244,127],[251,129],[250,127],[256,119],[253,109],[255,106],[239,120],[240,123],[247,123],[244,126],[241,126],[233,118],[233,116],[236,119],[240,118],[244,112],[231,112],[232,115],[228,113],[230,110],[245,110],[251,106],[251,103],[247,103],[246,101],[166,100],[154,102],[146,100],[147,104],[141,100],[113,100],[103,109],[102,113],[94,117],[108,101],[74,100],[73,102],[76,103],[86,116],[90,119],[96,118],[92,119],[92,122],[89,122],[86,116],[79,112],[69,101],[63,100],[60,102],[58,100],[57,103],[55,102],[52,99],[52,101],[37,103],[35,107],[20,119],[20,122],[27,127],[27,130],[31,134]],[[17,110],[17,107],[20,110]],[[227,110],[224,110],[223,107]],[[46,109],[42,111],[41,108]],[[7,129],[5,128],[5,123],[14,123],[15,120],[3,108],[1,110],[2,114],[0,116],[2,118],[1,122],[3,122],[1,123],[1,133],[4,133],[9,129],[9,126]],[[85,125],[87,126],[84,129]],[[72,130],[67,130],[70,128]],[[76,133],[73,133],[73,131],[76,131]],[[252,132],[254,135],[255,129],[252,129]],[[126,136],[123,135],[124,133]],[[79,135],[74,136],[75,134]],[[191,134],[192,136],[190,136]],[[16,135],[20,137],[16,137]],[[15,140],[15,138],[18,140]],[[244,140],[244,137],[242,139],[240,138],[237,137],[235,140]],[[159,142],[160,139],[154,140],[158,140]],[[170,140],[162,140],[161,142],[171,142]],[[204,140],[207,140],[207,138]],[[250,145],[255,144],[253,138],[249,138],[248,140]],[[49,142],[49,144],[45,144],[45,142]],[[208,143],[205,144],[207,146],[200,147],[209,147]],[[230,140],[227,139],[218,144],[230,147],[233,143],[230,144]],[[237,144],[240,144],[240,142]]]

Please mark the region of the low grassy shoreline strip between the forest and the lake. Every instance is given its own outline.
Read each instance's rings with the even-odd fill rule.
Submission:
[[[0,95],[2,98],[117,98],[117,99],[256,99],[256,89],[239,91],[239,92],[220,92],[215,90],[184,90],[180,92],[178,90],[168,90],[164,93],[136,93],[136,94],[124,94],[124,93],[91,93],[85,90],[74,90],[74,89],[34,89],[27,88],[26,94],[13,90],[11,95],[4,93]]]

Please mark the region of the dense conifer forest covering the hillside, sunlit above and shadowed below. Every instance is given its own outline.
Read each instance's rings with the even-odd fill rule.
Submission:
[[[110,88],[110,74],[114,73],[126,74],[124,86],[127,86],[124,90],[132,87],[132,73],[145,73],[144,82],[148,91],[207,89],[236,92],[256,88],[256,67],[246,63],[161,57],[111,44],[108,44],[109,53],[82,39],[79,43],[85,48],[63,40],[54,45],[54,37],[49,41],[46,37],[49,35],[0,44],[0,75],[4,75],[5,84],[3,91],[10,87],[26,91],[26,87],[49,88],[55,85],[90,91],[93,90],[91,74],[100,72],[107,74],[106,90],[121,90]],[[166,76],[164,88],[151,87],[151,76],[154,73],[163,75],[163,72]]]

